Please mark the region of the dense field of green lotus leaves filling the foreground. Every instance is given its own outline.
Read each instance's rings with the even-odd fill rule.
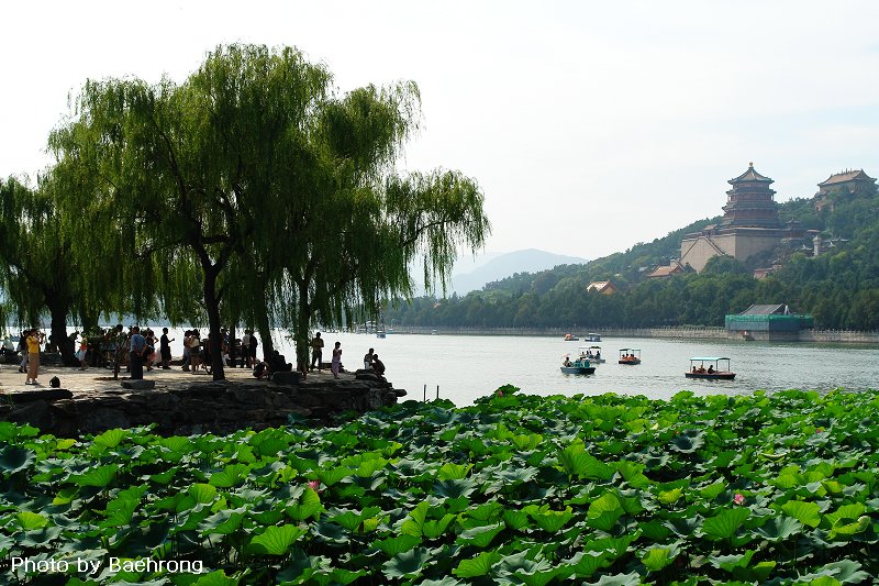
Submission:
[[[227,436],[76,441],[0,423],[0,582],[879,579],[879,395],[515,390]],[[12,572],[13,557],[99,570]]]

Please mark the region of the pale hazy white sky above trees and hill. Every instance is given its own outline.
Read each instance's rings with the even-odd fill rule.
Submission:
[[[879,176],[871,1],[4,2],[0,176],[48,163],[87,78],[182,81],[232,42],[294,45],[340,91],[418,82],[407,169],[486,194],[487,250],[594,258],[721,213],[748,162],[779,201]]]

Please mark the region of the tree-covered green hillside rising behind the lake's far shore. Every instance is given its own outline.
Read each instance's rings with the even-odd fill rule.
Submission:
[[[812,314],[816,328],[879,329],[876,189],[831,190],[820,209],[815,202],[780,203],[779,217],[820,231],[825,250],[817,257],[811,251],[774,251],[759,259],[777,263],[764,278],[753,276],[756,266],[731,257],[713,258],[700,274],[646,277],[678,256],[685,234],[720,220],[712,218],[585,265],[516,274],[464,297],[392,303],[387,318],[400,325],[475,328],[723,325],[727,313],[752,303],[788,303]],[[587,290],[597,280],[611,280],[619,291]]]

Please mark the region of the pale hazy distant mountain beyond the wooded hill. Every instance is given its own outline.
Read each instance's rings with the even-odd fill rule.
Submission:
[[[481,258],[477,259],[476,267],[471,270],[453,273],[450,289],[458,295],[467,295],[470,291],[481,289],[489,283],[510,277],[516,273],[538,273],[558,265],[579,265],[588,262],[586,258],[554,254],[536,248],[489,254],[492,257],[488,262],[480,264],[479,261]]]

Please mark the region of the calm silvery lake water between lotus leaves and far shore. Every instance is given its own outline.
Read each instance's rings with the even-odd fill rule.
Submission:
[[[879,349],[875,346],[816,345],[793,343],[621,339],[604,338],[597,343],[608,362],[593,375],[566,375],[559,369],[566,353],[578,353],[591,342],[565,342],[554,338],[322,333],[324,361],[342,342],[342,363],[348,369],[361,367],[363,356],[376,349],[387,367],[386,377],[407,398],[450,399],[463,407],[512,384],[533,395],[600,395],[616,392],[667,399],[679,390],[697,394],[745,394],[789,388],[828,391],[835,388],[879,388]],[[281,352],[294,355],[286,341]],[[642,364],[616,364],[622,347],[641,349]],[[728,356],[735,380],[691,380],[683,376],[691,356]],[[705,365],[708,366],[708,365]]]

